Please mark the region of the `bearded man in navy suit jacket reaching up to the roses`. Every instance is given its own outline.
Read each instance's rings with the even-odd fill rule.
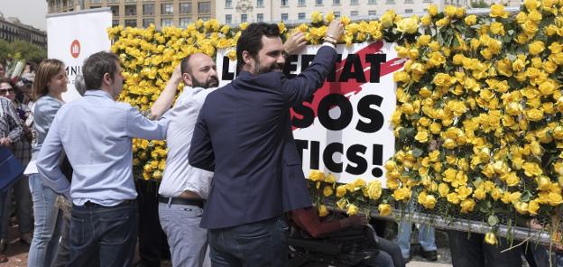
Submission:
[[[300,164],[285,151],[288,110],[321,87],[337,58],[342,23],[330,23],[309,68],[285,78],[276,24],[252,23],[236,43],[242,69],[233,82],[208,95],[194,129],[189,162],[215,171],[201,226],[209,229],[214,266],[285,266],[282,170]]]

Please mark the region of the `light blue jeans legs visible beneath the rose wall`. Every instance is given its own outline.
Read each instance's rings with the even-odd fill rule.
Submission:
[[[397,236],[397,243],[401,247],[403,258],[411,256],[411,233],[412,223],[405,220],[401,221],[401,233]],[[426,252],[436,250],[436,242],[434,240],[434,227],[427,225],[420,225],[419,229],[419,243],[422,249]]]

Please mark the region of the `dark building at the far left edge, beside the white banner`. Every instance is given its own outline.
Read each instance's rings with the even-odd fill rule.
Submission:
[[[47,32],[20,22],[17,18],[5,18],[0,13],[0,39],[5,41],[27,41],[47,49]]]

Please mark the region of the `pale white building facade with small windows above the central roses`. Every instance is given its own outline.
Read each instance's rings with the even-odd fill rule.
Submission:
[[[313,11],[351,19],[377,17],[387,10],[397,14],[421,14],[429,4],[441,9],[444,0],[217,0],[217,20],[221,23],[284,22],[310,19]]]

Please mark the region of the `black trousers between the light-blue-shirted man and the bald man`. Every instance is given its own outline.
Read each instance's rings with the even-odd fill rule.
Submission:
[[[139,196],[139,266],[159,267],[162,258],[170,258],[166,234],[162,231],[158,211],[158,183],[135,180]]]

